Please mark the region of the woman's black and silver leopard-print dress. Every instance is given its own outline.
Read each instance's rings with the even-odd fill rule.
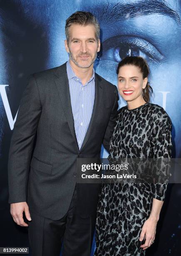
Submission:
[[[171,120],[159,105],[118,111],[110,142],[112,158],[170,158]],[[164,200],[166,183],[102,184],[94,256],[141,256],[139,236],[153,198]]]

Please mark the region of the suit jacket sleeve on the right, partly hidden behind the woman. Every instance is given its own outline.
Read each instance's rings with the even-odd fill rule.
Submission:
[[[110,151],[110,141],[112,138],[112,134],[114,131],[114,125],[116,123],[116,118],[117,118],[117,110],[118,110],[118,100],[119,100],[119,96],[118,96],[118,91],[117,91],[117,87],[115,86],[115,100],[114,100],[114,105],[112,107],[112,112],[109,118],[109,123],[107,125],[107,129],[104,135],[104,140],[103,140],[103,146],[104,148],[106,148],[106,150]]]

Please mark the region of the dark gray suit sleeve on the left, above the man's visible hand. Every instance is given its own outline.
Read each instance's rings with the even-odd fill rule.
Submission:
[[[20,101],[8,159],[9,203],[27,201],[27,182],[32,148],[41,115],[41,102],[33,76]]]

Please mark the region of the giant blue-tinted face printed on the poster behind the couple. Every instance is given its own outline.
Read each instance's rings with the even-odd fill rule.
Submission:
[[[46,37],[47,41],[47,45],[43,46],[47,55],[47,58],[45,56],[47,68],[59,66],[67,61],[68,55],[64,49],[65,20],[77,10],[90,11],[99,20],[102,46],[94,64],[94,69],[99,75],[117,85],[116,67],[119,61],[126,56],[144,57],[151,70],[149,82],[154,90],[151,102],[164,107],[171,117],[176,156],[180,156],[181,21],[178,11],[181,8],[180,1],[32,0],[29,2],[21,0],[11,2],[16,2],[17,19],[20,18],[20,10],[23,14],[22,21],[18,23],[20,30],[24,20],[28,20],[29,26],[43,27],[44,38]],[[41,36],[40,40],[42,40]],[[13,37],[10,40],[13,41]],[[33,38],[31,40],[33,43]],[[1,47],[3,49],[5,46],[1,45]],[[4,57],[0,57],[3,61]],[[119,103],[120,106],[126,105],[121,97]],[[3,109],[3,104],[0,104],[0,108]]]

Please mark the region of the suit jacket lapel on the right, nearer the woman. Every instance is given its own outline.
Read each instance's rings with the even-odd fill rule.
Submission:
[[[97,114],[102,106],[102,86],[101,86],[101,78],[95,73],[95,98],[94,98],[94,107],[92,110],[92,117],[89,123],[89,127],[87,129],[87,133],[85,135],[84,141],[82,143],[82,146],[80,148],[80,151],[82,151],[82,148],[87,143],[89,136],[91,134],[92,127],[94,125],[94,122],[97,118]]]

